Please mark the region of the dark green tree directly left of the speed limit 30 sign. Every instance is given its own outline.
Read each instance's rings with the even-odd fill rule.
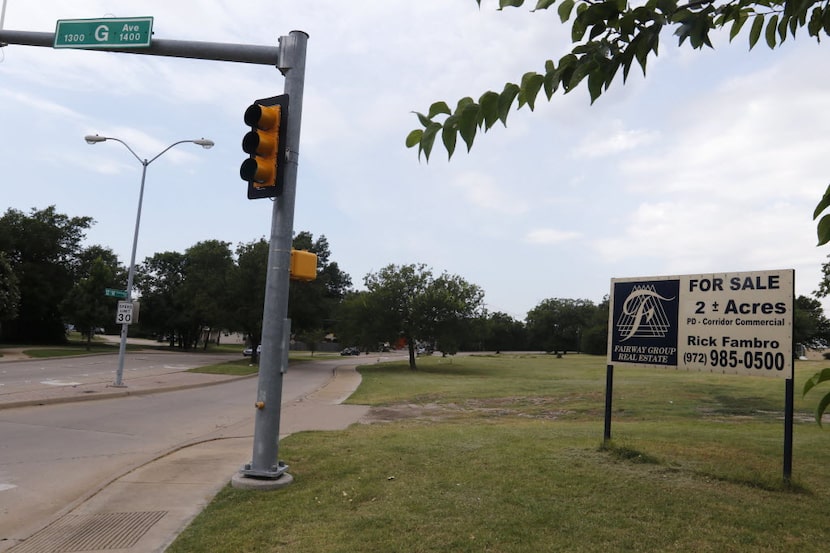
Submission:
[[[86,337],[86,349],[90,349],[95,329],[106,326],[114,317],[116,300],[104,296],[104,289],[114,285],[115,272],[98,257],[63,301],[65,316]]]

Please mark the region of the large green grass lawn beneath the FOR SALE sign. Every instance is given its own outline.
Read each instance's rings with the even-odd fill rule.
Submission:
[[[826,362],[799,362],[796,390]],[[361,367],[341,432],[282,440],[294,476],[226,487],[167,550],[233,552],[823,552],[830,430],[796,393],[782,482],[784,381],[470,356]]]

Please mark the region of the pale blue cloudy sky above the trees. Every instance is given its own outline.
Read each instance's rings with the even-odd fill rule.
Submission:
[[[496,0],[7,0],[5,29],[153,16],[155,38],[277,45],[308,33],[295,231],[325,235],[360,287],[389,263],[478,284],[523,320],[546,298],[602,300],[613,277],[794,268],[816,289],[830,253],[813,209],[830,182],[827,51],[801,32],[769,51],[746,37],[694,51],[664,36],[593,106],[585,87],[429,163],[404,140],[413,111],[455,105],[566,53],[555,11]],[[533,2],[531,2],[533,4]],[[246,198],[242,114],[280,94],[274,68],[89,50],[0,50],[0,212],[55,205],[91,216],[87,244],[126,264],[141,165],[153,162],[139,261],[201,240],[268,236],[269,200]],[[541,98],[541,96],[540,96]]]

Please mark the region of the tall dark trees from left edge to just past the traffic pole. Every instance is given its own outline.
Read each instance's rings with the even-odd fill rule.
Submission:
[[[54,206],[29,214],[9,209],[0,217],[0,340],[6,343],[66,341],[67,326],[91,338],[96,329],[117,331],[119,301],[104,295],[123,290],[127,267],[104,246],[82,247],[91,217],[68,217]],[[349,276],[330,261],[325,237],[301,232],[294,247],[317,254],[318,277],[291,283],[289,316],[297,332],[331,326],[351,288]],[[136,267],[140,320],[137,335],[156,336],[191,349],[219,330],[259,340],[268,244],[207,240],[184,252],[162,252]]]

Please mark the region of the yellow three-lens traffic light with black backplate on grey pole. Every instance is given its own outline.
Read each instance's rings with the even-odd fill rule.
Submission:
[[[282,194],[287,120],[287,94],[256,100],[245,110],[251,130],[242,139],[242,149],[250,157],[242,162],[239,176],[248,181],[249,200]]]

